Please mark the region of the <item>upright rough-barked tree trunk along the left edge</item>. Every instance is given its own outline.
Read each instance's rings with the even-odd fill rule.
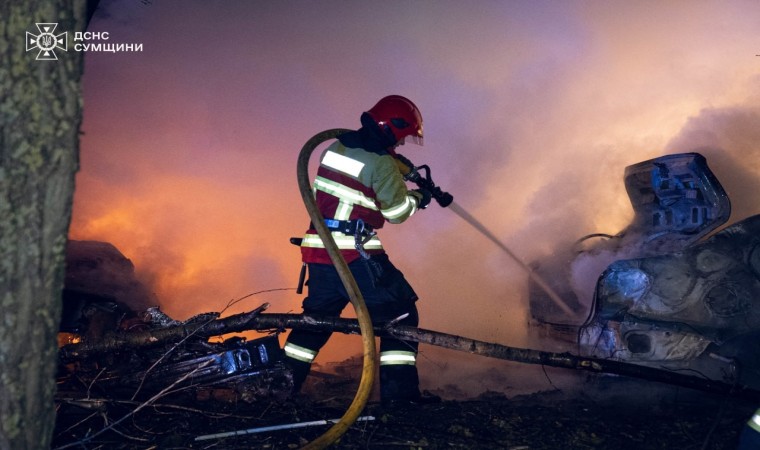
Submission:
[[[83,55],[26,51],[82,31],[84,1],[0,3],[0,449],[49,448],[55,424],[56,335],[82,118]],[[50,41],[40,40],[45,46]]]

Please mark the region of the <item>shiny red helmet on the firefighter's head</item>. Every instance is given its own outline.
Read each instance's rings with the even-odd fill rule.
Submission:
[[[381,130],[392,135],[396,143],[411,136],[412,142],[422,145],[422,114],[408,98],[400,95],[383,97],[367,114]]]

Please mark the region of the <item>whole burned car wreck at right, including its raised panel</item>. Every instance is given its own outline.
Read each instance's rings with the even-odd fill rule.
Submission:
[[[625,183],[631,225],[537,265],[546,277],[564,274],[553,277],[554,287],[577,315],[561,316],[532,288],[534,325],[564,334],[584,356],[757,388],[760,215],[706,237],[728,220],[730,202],[697,153],[629,166]],[[599,269],[593,291],[581,295],[572,280],[579,266]]]

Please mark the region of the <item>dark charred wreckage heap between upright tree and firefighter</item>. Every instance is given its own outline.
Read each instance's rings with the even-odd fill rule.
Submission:
[[[61,400],[147,398],[170,386],[183,395],[223,393],[244,401],[289,395],[292,376],[276,332],[253,340],[187,332],[210,328],[219,313],[179,322],[149,306],[155,299],[135,279],[132,263],[108,243],[69,241],[66,263],[58,335]],[[67,351],[142,335],[142,341],[97,354]]]

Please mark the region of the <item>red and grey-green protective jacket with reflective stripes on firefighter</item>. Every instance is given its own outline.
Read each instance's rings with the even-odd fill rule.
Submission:
[[[375,230],[385,221],[401,223],[417,211],[422,196],[407,189],[399,166],[383,144],[373,145],[362,133],[363,129],[346,133],[323,152],[313,186],[317,207],[326,220],[361,219]],[[332,235],[347,263],[359,257],[354,236],[340,231]],[[377,236],[364,249],[369,254],[385,252]],[[313,224],[304,236],[301,254],[306,263],[332,264]]]

